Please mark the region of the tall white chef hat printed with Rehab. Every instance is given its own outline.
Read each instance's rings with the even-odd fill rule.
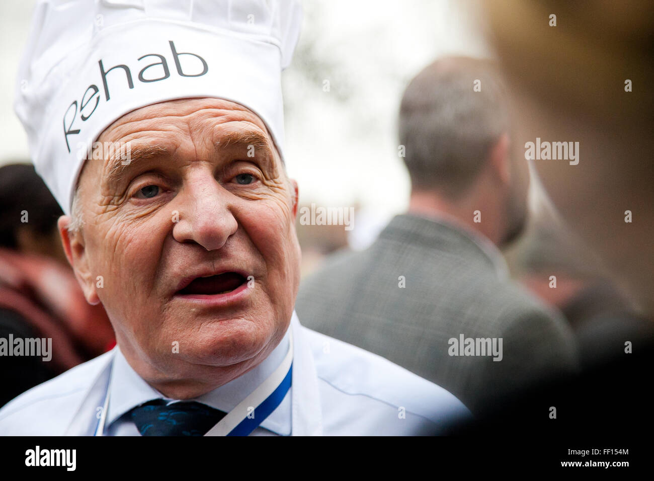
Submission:
[[[88,146],[152,103],[240,103],[266,123],[282,155],[281,71],[300,22],[296,0],[37,1],[14,107],[63,211]]]

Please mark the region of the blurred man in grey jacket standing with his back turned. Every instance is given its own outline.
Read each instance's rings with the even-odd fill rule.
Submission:
[[[498,250],[523,229],[529,177],[492,64],[426,67],[404,93],[399,131],[409,211],[301,283],[302,319],[439,383],[473,413],[576,369],[571,330],[509,279]]]

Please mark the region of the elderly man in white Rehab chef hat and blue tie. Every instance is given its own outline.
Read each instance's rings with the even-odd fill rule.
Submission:
[[[10,402],[0,431],[409,435],[467,416],[445,389],[294,315],[280,67],[297,5],[132,4],[37,7],[17,110],[118,347]],[[77,139],[95,140],[85,162]]]

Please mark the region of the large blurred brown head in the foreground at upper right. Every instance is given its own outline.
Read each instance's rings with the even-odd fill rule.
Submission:
[[[534,166],[568,225],[653,313],[654,4],[494,0],[487,13],[516,143],[579,143],[576,164]]]

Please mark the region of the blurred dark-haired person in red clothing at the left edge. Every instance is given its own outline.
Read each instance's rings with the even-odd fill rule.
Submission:
[[[107,313],[82,294],[61,247],[61,209],[31,164],[0,168],[0,212],[0,338],[50,338],[55,346],[46,361],[3,353],[5,404],[115,341]]]

